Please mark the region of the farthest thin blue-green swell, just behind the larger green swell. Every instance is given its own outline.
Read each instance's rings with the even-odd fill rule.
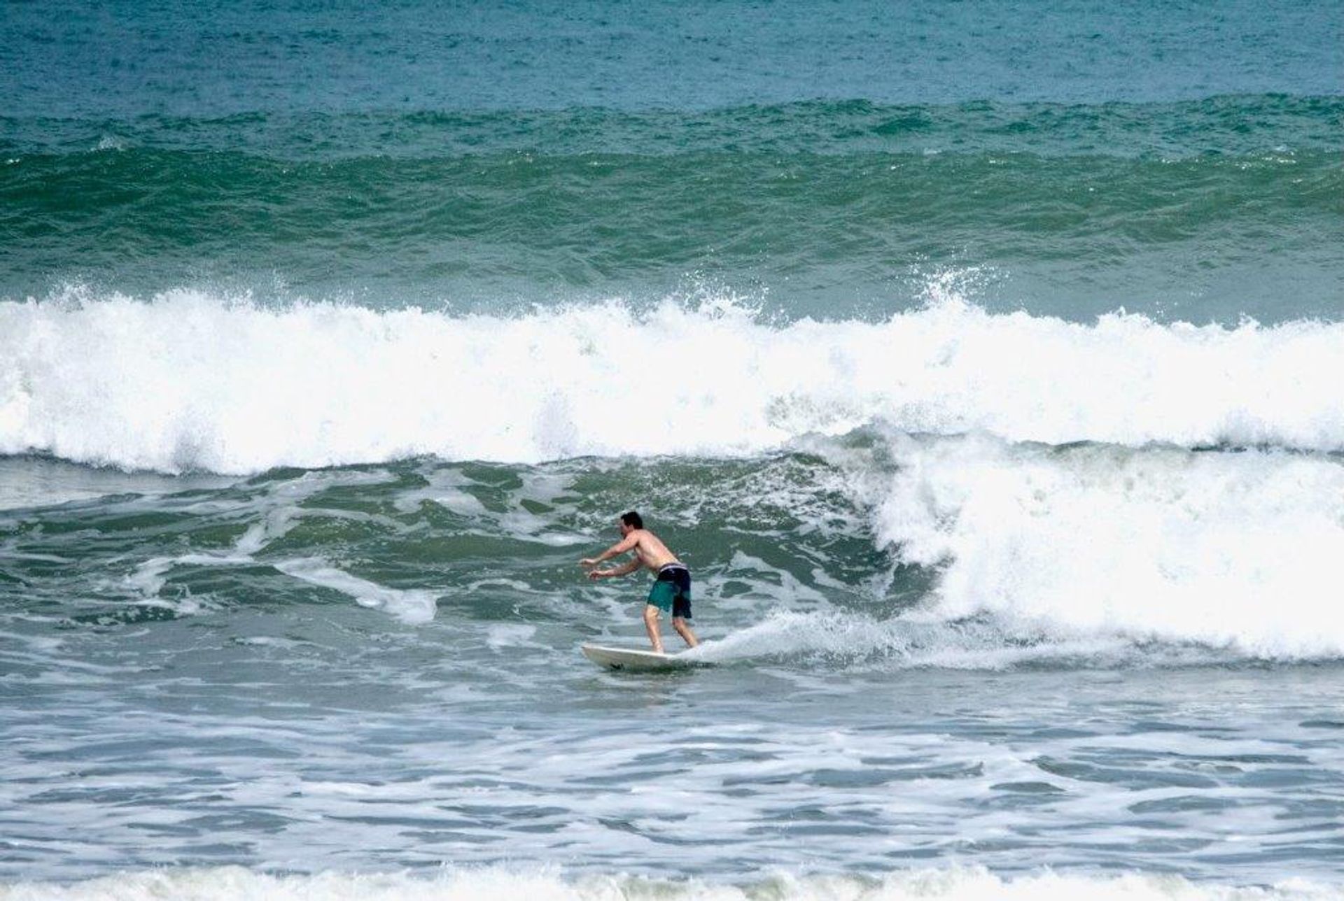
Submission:
[[[255,110],[219,117],[0,117],[0,153],[159,148],[290,160],[362,156],[673,153],[1254,154],[1333,150],[1341,97],[1228,94],[1175,102],[882,103],[812,99],[708,110]]]

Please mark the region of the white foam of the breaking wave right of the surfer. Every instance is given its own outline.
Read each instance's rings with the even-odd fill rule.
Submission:
[[[890,443],[898,469],[864,501],[880,542],[939,568],[927,622],[989,615],[1008,638],[1060,645],[1344,655],[1337,458],[986,436]]]

